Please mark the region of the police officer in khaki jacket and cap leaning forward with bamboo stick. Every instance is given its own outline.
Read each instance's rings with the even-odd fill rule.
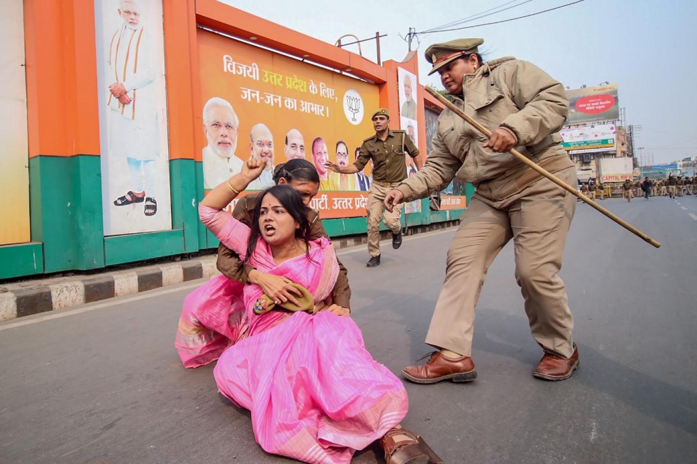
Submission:
[[[419,383],[476,378],[470,357],[475,305],[489,265],[513,239],[516,281],[530,330],[544,350],[533,375],[563,380],[579,365],[574,322],[558,276],[576,197],[507,150],[515,147],[576,185],[576,169],[558,134],[569,102],[562,84],[532,63],[512,57],[482,63],[477,47],[483,42],[467,38],[431,45],[426,59],[456,105],[493,134],[487,138],[445,109],[424,168],[385,197],[390,209],[442,190],[454,176],[477,187],[447,252],[445,282],[426,338],[438,351],[426,364],[402,372]]]

